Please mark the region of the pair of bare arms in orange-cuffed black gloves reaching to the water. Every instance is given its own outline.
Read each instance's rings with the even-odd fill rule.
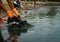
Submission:
[[[15,21],[15,22],[20,22],[21,21],[21,16],[19,15],[18,11],[16,10],[16,8],[14,8],[13,3],[11,2],[11,0],[7,0],[8,5],[10,6],[10,8],[12,9],[12,11],[15,13],[15,15],[13,15],[9,10],[7,10],[4,5],[2,4],[2,0],[0,0],[0,8],[8,15],[8,21],[7,24]]]

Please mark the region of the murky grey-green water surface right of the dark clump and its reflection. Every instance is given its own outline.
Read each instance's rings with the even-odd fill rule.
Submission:
[[[60,42],[60,6],[42,6],[24,17],[34,27],[20,33],[19,42]]]

